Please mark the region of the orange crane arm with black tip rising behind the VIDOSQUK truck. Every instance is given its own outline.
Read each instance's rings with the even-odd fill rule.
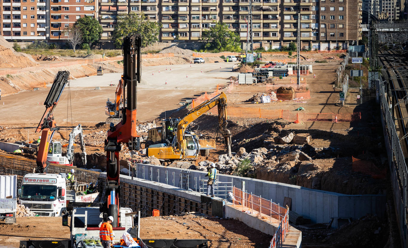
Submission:
[[[42,131],[41,142],[37,153],[37,168],[35,168],[35,172],[37,173],[47,173],[47,166],[49,164],[47,162],[49,144],[52,140],[54,132],[59,129],[55,123],[53,111],[58,104],[62,91],[64,91],[65,86],[69,82],[68,79],[69,71],[58,71],[47,98],[44,101],[46,109],[42,115],[40,123],[37,126],[37,129],[35,130],[35,133]]]

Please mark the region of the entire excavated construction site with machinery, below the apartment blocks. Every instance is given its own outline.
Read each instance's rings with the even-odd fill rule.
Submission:
[[[386,103],[353,88],[358,54],[140,49],[50,58],[0,40],[3,247],[102,247],[108,216],[115,247],[406,247]]]

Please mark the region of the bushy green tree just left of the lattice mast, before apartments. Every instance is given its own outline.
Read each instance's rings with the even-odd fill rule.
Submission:
[[[206,42],[206,49],[217,49],[219,51],[238,51],[239,36],[229,30],[229,24],[217,22],[214,27],[202,32],[200,40]]]

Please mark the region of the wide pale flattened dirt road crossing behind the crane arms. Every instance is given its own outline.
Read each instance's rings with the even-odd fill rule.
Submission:
[[[180,101],[214,91],[217,84],[224,85],[228,81],[220,78],[226,79],[236,74],[231,72],[232,66],[233,63],[211,63],[192,64],[191,67],[190,64],[144,67],[142,69],[144,83],[138,85],[137,89],[137,119],[145,121],[160,115],[164,117],[165,111],[180,107],[178,105]],[[58,107],[54,111],[57,123],[61,125],[63,122],[66,123],[67,119],[71,122],[71,110],[74,124],[104,122],[106,100],[114,99],[120,75],[120,73],[107,73],[102,76],[71,80],[70,86],[64,89]],[[165,84],[166,80],[167,84]],[[111,82],[116,85],[109,86]],[[0,123],[39,122],[45,110],[42,102],[47,97],[50,86],[51,84],[38,91],[26,91],[2,97]],[[100,90],[95,90],[96,86],[101,87]]]

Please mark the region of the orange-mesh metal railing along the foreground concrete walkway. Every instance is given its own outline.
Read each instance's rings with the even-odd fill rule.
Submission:
[[[282,247],[282,242],[289,231],[289,208],[284,208],[261,196],[246,193],[236,187],[232,188],[232,202],[233,207],[242,207],[243,212],[255,215],[264,221],[268,221],[264,218],[265,215],[269,217],[268,222],[272,222],[272,218],[277,219],[279,226],[271,239],[269,248]]]

